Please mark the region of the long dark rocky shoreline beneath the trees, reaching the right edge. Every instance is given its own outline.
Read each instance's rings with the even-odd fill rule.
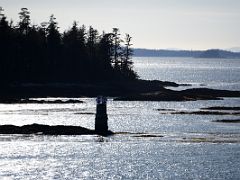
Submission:
[[[181,91],[166,87],[186,86],[174,82],[135,80],[127,82],[98,82],[79,84],[13,84],[1,88],[0,103],[81,103],[77,100],[64,102],[36,102],[29,98],[46,97],[116,97],[118,101],[196,101],[220,100],[223,97],[240,97],[240,91],[208,88]],[[25,99],[25,100],[22,100]]]

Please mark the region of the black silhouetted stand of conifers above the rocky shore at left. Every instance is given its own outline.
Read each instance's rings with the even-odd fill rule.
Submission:
[[[137,79],[132,70],[131,37],[119,29],[99,34],[93,27],[59,32],[54,15],[33,25],[22,8],[19,22],[8,21],[0,7],[0,80],[9,83],[81,83]]]

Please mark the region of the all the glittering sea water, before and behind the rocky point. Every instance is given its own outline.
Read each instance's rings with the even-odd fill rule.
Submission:
[[[134,61],[145,79],[240,90],[240,60]],[[0,104],[0,124],[63,124],[93,129],[95,100],[80,100],[84,103]],[[239,104],[239,98],[195,102],[109,99],[109,128],[116,132],[114,136],[0,135],[0,179],[239,179],[240,124],[213,122],[239,116],[157,111],[197,111]]]

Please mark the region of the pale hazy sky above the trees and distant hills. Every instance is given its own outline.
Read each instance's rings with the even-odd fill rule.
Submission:
[[[240,0],[0,0],[0,6],[14,22],[27,7],[33,23],[54,14],[61,30],[74,20],[99,31],[118,27],[134,47],[240,47]]]

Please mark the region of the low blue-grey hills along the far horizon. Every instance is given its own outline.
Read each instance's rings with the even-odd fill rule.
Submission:
[[[135,57],[194,57],[194,58],[240,58],[240,52],[221,49],[205,51],[190,50],[164,50],[164,49],[134,49]]]

